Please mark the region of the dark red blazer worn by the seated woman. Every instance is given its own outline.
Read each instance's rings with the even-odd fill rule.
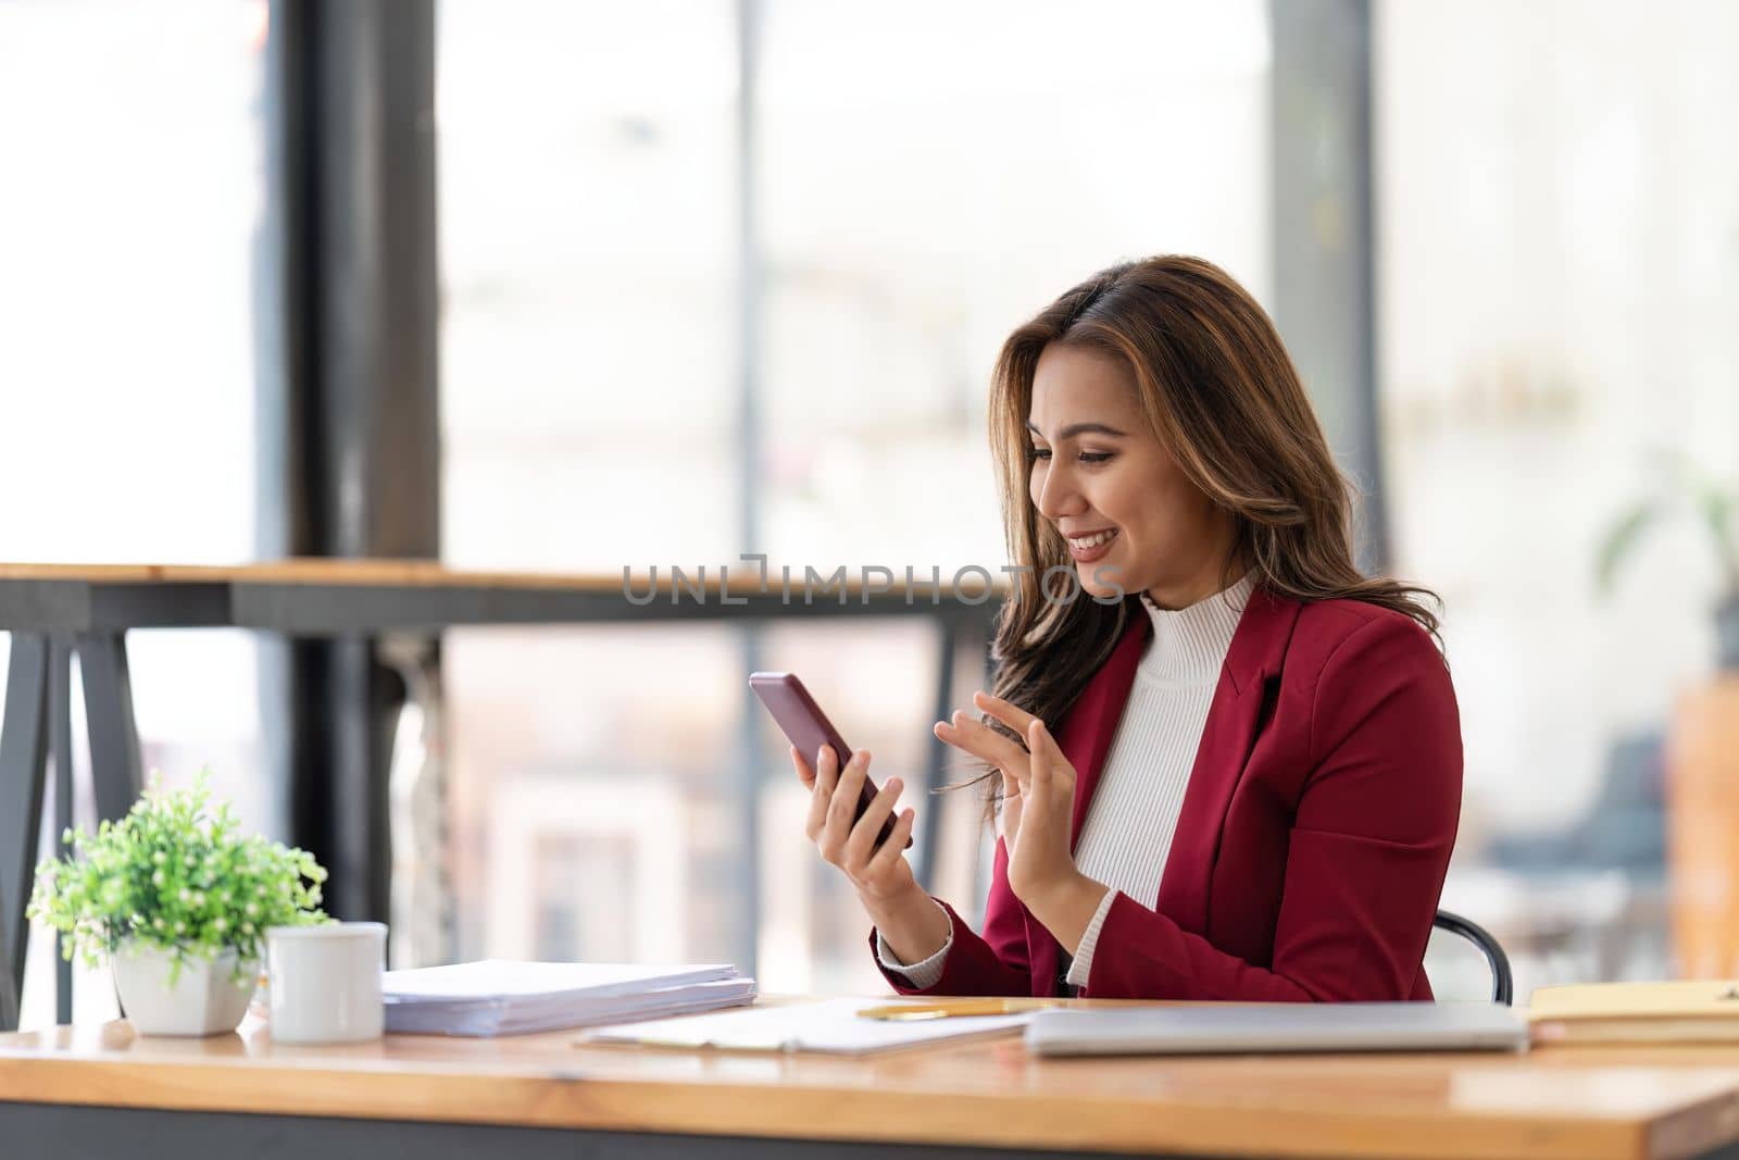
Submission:
[[[1056,730],[1076,772],[1075,840],[1151,635],[1148,616],[1130,617]],[[1158,903],[1118,894],[1082,993],[1431,998],[1421,960],[1459,814],[1461,722],[1429,635],[1377,605],[1257,590],[1221,668]],[[897,991],[1056,993],[1061,948],[1009,889],[1000,838],[984,934],[943,908],[943,977],[920,991],[883,969]]]

